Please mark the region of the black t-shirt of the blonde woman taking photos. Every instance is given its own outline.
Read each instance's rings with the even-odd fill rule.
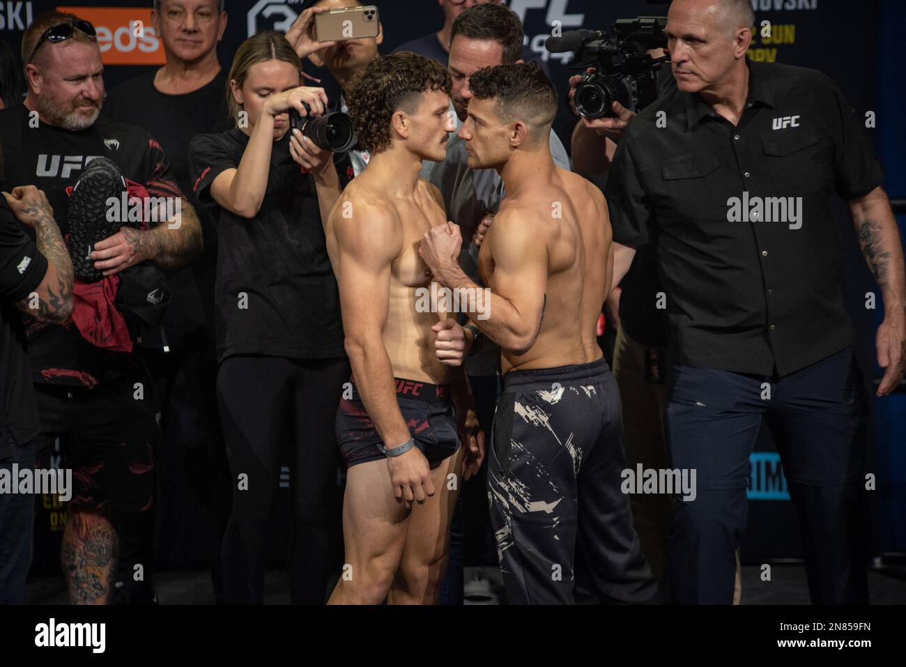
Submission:
[[[217,360],[234,354],[291,359],[342,357],[340,293],[311,175],[289,154],[289,133],[271,153],[255,218],[217,206],[211,182],[236,169],[248,137],[237,129],[203,134],[189,150],[193,189],[217,220]]]

